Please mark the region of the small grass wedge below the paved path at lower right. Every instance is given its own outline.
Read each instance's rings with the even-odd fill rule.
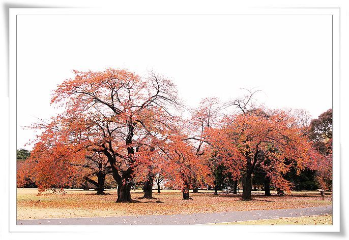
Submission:
[[[212,225],[332,225],[332,214],[253,221],[214,223]]]

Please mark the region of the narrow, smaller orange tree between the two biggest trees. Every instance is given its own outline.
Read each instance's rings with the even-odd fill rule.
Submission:
[[[167,184],[181,189],[183,199],[191,199],[189,190],[211,182],[208,166],[209,151],[203,137],[202,126],[196,131],[194,118],[177,118],[166,141],[158,145],[164,154],[162,171]]]

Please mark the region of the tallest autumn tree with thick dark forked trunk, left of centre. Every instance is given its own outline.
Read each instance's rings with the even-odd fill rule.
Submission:
[[[157,138],[153,125],[170,124],[165,122],[167,117],[180,105],[175,85],[155,73],[143,78],[112,68],[74,74],[52,96],[51,104],[65,109],[57,117],[64,123],[57,131],[67,134],[59,146],[72,155],[104,154],[118,184],[117,202],[131,202],[134,168],[142,161],[137,149],[146,146],[150,137]],[[56,164],[62,157],[55,158]]]

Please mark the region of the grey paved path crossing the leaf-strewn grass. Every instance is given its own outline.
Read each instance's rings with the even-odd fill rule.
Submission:
[[[279,209],[197,213],[188,215],[148,215],[125,217],[94,217],[65,219],[18,220],[17,225],[194,225],[220,222],[247,221],[281,217],[300,217],[331,214],[332,205],[304,209]]]

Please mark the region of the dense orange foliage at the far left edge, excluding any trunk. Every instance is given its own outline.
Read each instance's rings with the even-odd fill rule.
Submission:
[[[60,123],[61,119],[57,118],[45,124],[45,130],[38,136],[30,158],[17,172],[19,186],[24,186],[27,181],[35,181],[39,192],[42,192],[50,188],[70,187],[82,180],[83,173],[77,165],[84,164],[86,152],[78,144],[73,144],[78,135],[76,129],[72,134],[62,130],[66,125]]]

